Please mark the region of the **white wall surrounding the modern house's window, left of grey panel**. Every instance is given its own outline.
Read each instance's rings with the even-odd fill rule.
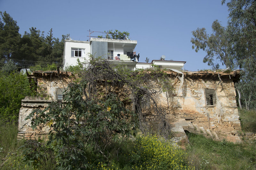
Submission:
[[[84,48],[85,49],[85,57],[71,57],[71,48]],[[70,65],[76,65],[77,64],[77,59],[79,61],[84,62],[84,60],[89,60],[89,55],[90,53],[90,42],[89,41],[71,41],[71,40],[66,40],[65,41],[65,49],[64,49],[64,61],[63,61],[63,68],[65,69],[66,67]]]

